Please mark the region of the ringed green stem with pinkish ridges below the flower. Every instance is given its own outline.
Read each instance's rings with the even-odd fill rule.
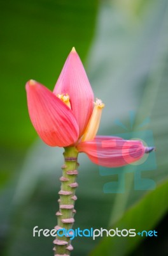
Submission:
[[[64,148],[64,165],[62,166],[62,177],[60,177],[61,187],[59,191],[59,211],[56,212],[57,215],[57,226],[56,230],[60,228],[65,228],[69,230],[73,227],[74,223],[74,202],[77,199],[75,196],[76,187],[76,176],[78,174],[78,150],[75,147]],[[61,234],[61,233],[60,233]],[[70,255],[73,246],[71,246],[70,237],[57,236],[53,241],[55,244],[55,255]]]

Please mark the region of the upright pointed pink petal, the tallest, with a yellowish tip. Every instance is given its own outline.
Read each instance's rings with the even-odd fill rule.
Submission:
[[[94,93],[80,57],[75,50],[72,50],[67,57],[53,93],[55,95],[62,93],[69,95],[71,109],[80,127],[81,136],[93,111]]]

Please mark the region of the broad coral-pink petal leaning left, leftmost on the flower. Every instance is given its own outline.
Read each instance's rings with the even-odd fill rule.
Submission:
[[[71,109],[36,81],[26,84],[31,122],[47,145],[67,147],[78,140],[78,124]]]

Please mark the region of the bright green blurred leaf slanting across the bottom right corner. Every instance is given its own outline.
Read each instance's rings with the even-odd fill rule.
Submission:
[[[153,230],[168,210],[167,196],[168,181],[166,180],[157,189],[145,195],[143,199],[126,211],[123,217],[119,221],[116,221],[115,225],[109,227],[109,229],[116,230],[118,228],[118,230],[129,230],[130,228],[134,228],[136,229],[136,233],[142,232],[143,230]],[[161,234],[157,235],[160,236]],[[101,243],[89,255],[129,255],[144,238],[144,234],[143,237],[138,235],[135,237],[109,236],[102,239]]]

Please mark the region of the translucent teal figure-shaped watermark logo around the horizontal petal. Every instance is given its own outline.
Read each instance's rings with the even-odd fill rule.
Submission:
[[[145,146],[155,145],[153,141],[153,132],[145,130],[144,125],[150,122],[150,118],[146,118],[141,124],[137,126],[137,131],[134,128],[135,113],[130,112],[130,127],[126,127],[120,120],[115,120],[115,124],[122,127],[123,133],[115,134],[115,136],[123,138],[124,140],[141,140]],[[104,147],[102,145],[102,147]],[[129,150],[129,149],[128,149]],[[138,150],[138,148],[137,148]],[[140,154],[141,152],[139,152]],[[138,154],[138,152],[137,152]],[[131,157],[131,156],[130,156]],[[124,156],[123,156],[124,158]],[[128,166],[117,168],[106,168],[99,166],[99,173],[101,176],[115,177],[117,181],[109,181],[103,186],[104,193],[125,193],[125,175],[127,173],[134,173],[134,189],[135,190],[153,190],[156,188],[155,181],[151,179],[150,172],[157,169],[155,152],[151,154],[144,154],[143,158]],[[145,172],[149,172],[149,177]]]

